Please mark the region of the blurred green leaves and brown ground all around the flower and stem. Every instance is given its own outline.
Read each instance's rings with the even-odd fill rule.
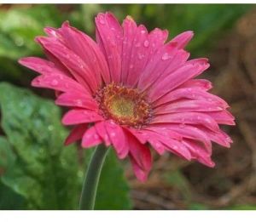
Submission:
[[[137,183],[130,165],[119,162],[112,152],[103,168],[96,208],[255,209],[256,143],[253,126],[247,125],[247,115],[255,107],[256,57],[253,60],[249,51],[256,46],[254,8],[248,4],[0,5],[0,209],[78,208],[91,151],[82,151],[79,145],[62,147],[68,131],[61,126],[63,110],[54,105],[50,90],[30,86],[36,73],[17,60],[44,56],[33,38],[44,34],[44,26],[58,27],[64,20],[95,37],[94,17],[106,10],[119,20],[130,14],[149,30],[166,28],[170,38],[195,31],[188,47],[191,57],[210,57],[212,68],[205,77],[215,83],[215,93],[235,107],[238,127],[226,128],[235,140],[231,151],[214,145],[217,168],[171,155],[154,157],[146,184]]]

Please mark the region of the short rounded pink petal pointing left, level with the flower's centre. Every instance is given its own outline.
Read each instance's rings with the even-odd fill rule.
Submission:
[[[55,100],[56,105],[64,105],[64,106],[74,106],[85,108],[88,110],[96,111],[98,110],[98,105],[96,101],[87,96],[86,94],[79,92],[68,92],[61,94]]]

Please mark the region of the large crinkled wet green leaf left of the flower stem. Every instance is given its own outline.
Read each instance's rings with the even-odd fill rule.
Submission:
[[[73,209],[79,200],[77,152],[63,147],[67,131],[53,102],[0,84],[2,127],[15,162],[1,177],[3,184],[26,199],[28,208]]]

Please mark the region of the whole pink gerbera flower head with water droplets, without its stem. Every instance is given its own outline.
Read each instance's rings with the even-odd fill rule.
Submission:
[[[55,103],[69,106],[65,125],[74,125],[66,145],[82,139],[89,148],[113,145],[129,157],[137,179],[147,179],[151,147],[213,167],[212,141],[230,147],[218,124],[234,125],[229,105],[208,93],[210,82],[195,79],[207,59],[188,60],[185,31],[165,43],[168,31],[150,31],[127,16],[122,26],[111,13],[96,16],[96,42],[64,22],[37,37],[48,60],[28,57],[20,64],[41,75],[32,86],[51,88]]]

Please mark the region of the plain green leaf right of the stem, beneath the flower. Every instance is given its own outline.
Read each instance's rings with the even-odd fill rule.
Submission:
[[[124,177],[124,170],[117,161],[113,148],[108,151],[108,156],[102,168],[102,174],[96,194],[96,206],[98,210],[127,210],[131,209],[130,188]],[[85,152],[88,164],[94,149]]]

